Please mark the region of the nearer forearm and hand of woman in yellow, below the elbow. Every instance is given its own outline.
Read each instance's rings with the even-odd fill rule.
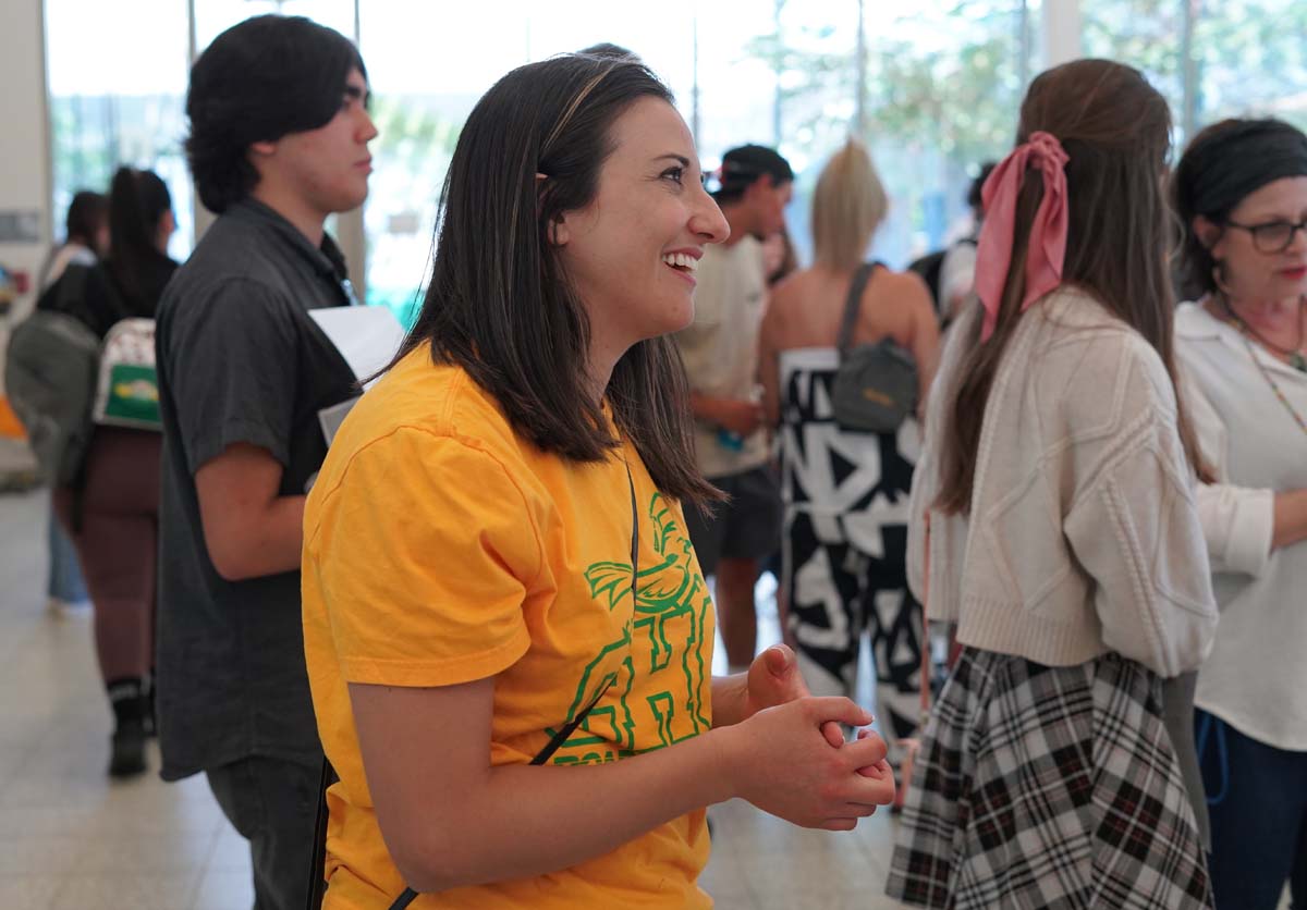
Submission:
[[[850,830],[894,796],[884,740],[839,736],[840,723],[870,719],[848,698],[800,698],[621,761],[486,768],[464,786],[437,785],[437,817],[410,815],[421,830],[392,829],[387,846],[412,886],[443,890],[576,866],[733,796],[793,824]]]

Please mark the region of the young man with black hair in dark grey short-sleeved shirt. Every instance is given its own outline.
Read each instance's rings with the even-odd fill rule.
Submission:
[[[306,18],[259,16],[209,46],[186,150],[218,219],[158,312],[162,776],[208,776],[250,839],[260,910],[306,900],[322,745],[301,529],[319,411],[357,394],[307,311],[353,302],[323,223],[367,196],[367,99],[354,46]]]

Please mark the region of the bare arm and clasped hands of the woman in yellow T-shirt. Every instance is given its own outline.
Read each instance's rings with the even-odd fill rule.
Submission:
[[[401,876],[430,892],[542,875],[733,796],[795,824],[852,826],[893,796],[893,781],[857,773],[885,757],[884,742],[827,738],[831,723],[865,726],[870,714],[848,698],[786,700],[797,684],[772,651],[759,668],[776,684],[759,685],[775,706],[754,706],[754,693],[742,722],[620,760],[578,751],[579,766],[489,761],[493,676],[434,688],[352,683],[367,787]]]

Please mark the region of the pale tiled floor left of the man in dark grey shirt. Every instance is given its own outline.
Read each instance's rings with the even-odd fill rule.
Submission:
[[[0,907],[248,907],[248,851],[203,778],[105,774],[90,618],[44,610],[44,501],[0,496]]]

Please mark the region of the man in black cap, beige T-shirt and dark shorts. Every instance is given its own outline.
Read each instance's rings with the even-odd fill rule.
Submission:
[[[716,576],[718,623],[732,671],[757,648],[754,585],[780,543],[780,495],[770,466],[758,389],[758,330],[766,303],[762,242],[786,226],[795,172],[774,149],[744,145],[721,159],[712,197],[731,226],[698,269],[694,322],[676,334],[690,376],[699,470],[731,496],[686,509],[706,574]]]

